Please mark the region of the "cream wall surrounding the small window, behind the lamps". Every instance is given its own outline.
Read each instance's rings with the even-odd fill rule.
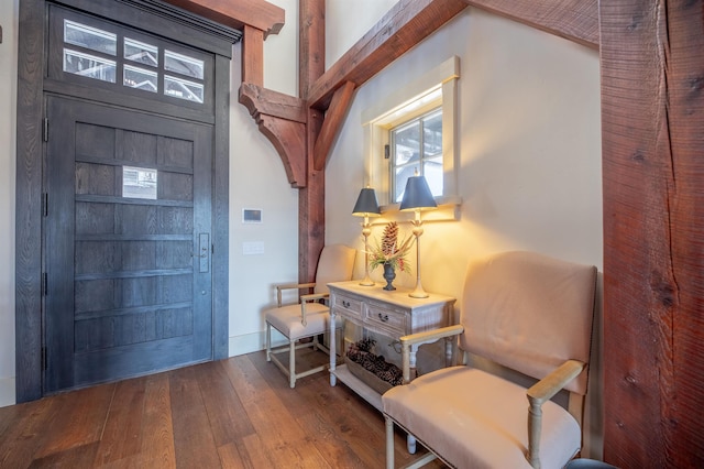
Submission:
[[[328,14],[328,31],[339,22],[353,19]],[[361,113],[453,55],[461,62],[463,204],[459,221],[425,223],[425,290],[461,299],[468,263],[504,250],[535,250],[601,270],[598,54],[471,8],[358,89],[326,171],[327,242],[362,249],[360,219],[351,216],[367,181]],[[382,228],[374,227],[372,237]],[[381,282],[381,271],[372,277]],[[405,273],[395,281],[414,283]],[[600,357],[594,363],[585,456],[598,458]]]

